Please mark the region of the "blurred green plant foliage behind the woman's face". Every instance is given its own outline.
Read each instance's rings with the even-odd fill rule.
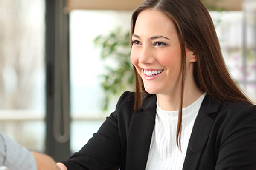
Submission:
[[[105,74],[101,87],[105,94],[103,110],[108,109],[108,104],[113,97],[120,96],[123,91],[135,90],[133,67],[130,61],[130,36],[129,31],[122,32],[121,28],[112,31],[109,35],[99,35],[94,39],[94,44],[101,48],[101,58],[105,63]]]

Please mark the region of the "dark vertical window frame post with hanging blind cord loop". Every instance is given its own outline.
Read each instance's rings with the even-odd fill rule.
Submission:
[[[46,153],[70,156],[69,14],[66,0],[46,0]]]

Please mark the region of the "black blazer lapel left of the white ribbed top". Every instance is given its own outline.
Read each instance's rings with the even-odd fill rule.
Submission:
[[[126,170],[145,170],[156,116],[156,95],[132,113],[128,132]]]

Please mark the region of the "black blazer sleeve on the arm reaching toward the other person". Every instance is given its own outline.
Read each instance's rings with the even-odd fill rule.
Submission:
[[[68,170],[116,170],[119,168],[121,147],[117,113],[128,93],[126,91],[122,94],[116,110],[106,118],[88,143],[79,152],[62,162]]]

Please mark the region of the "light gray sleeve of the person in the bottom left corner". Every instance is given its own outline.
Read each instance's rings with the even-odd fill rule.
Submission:
[[[0,166],[9,170],[36,170],[33,155],[25,147],[0,132]]]

